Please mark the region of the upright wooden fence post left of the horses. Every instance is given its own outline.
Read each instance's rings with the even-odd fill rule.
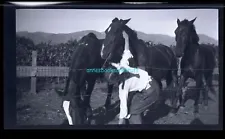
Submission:
[[[37,51],[32,51],[31,93],[36,94]]]

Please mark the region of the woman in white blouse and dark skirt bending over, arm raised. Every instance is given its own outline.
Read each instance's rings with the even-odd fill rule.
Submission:
[[[120,113],[119,123],[142,124],[142,114],[159,98],[160,88],[157,82],[140,68],[129,66],[132,58],[129,50],[125,50],[120,63],[111,63],[118,72],[108,74],[108,81],[112,84],[119,82]],[[128,105],[129,92],[134,92]],[[129,96],[130,97],[130,96]]]

